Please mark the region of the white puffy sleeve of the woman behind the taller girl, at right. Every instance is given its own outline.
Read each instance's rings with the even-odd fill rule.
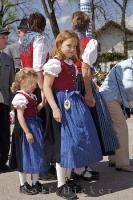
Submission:
[[[98,47],[97,40],[91,39],[88,42],[88,44],[86,45],[86,48],[84,49],[84,52],[82,54],[82,59],[83,59],[84,63],[93,65],[96,62],[97,47]]]

